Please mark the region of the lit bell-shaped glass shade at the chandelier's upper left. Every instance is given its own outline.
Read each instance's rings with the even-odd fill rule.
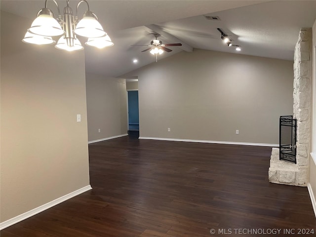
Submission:
[[[31,28],[28,30],[33,34],[40,36],[61,36],[64,30],[60,24],[51,16],[42,14],[38,16],[32,23]]]

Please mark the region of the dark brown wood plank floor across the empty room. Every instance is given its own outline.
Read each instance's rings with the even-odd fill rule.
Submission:
[[[89,145],[93,190],[1,231],[1,237],[263,236],[307,228],[305,187],[271,184],[271,147],[138,140]],[[210,230],[215,234],[211,235]],[[315,234],[316,235],[316,234]],[[309,235],[309,236],[315,236]]]

